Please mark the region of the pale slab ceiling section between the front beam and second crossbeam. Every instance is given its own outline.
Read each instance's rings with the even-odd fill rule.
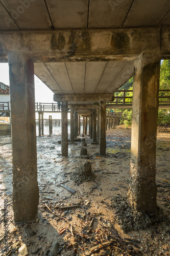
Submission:
[[[133,76],[133,61],[35,63],[35,74],[55,94],[113,93]]]

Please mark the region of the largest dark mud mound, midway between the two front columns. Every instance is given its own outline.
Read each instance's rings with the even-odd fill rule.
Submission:
[[[91,163],[86,161],[70,175],[70,178],[76,183],[81,184],[84,181],[90,181],[95,178],[95,174],[91,170]]]

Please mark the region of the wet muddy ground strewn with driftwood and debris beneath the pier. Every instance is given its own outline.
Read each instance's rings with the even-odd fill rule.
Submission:
[[[69,144],[68,158],[64,158],[61,157],[61,144],[57,142],[61,139],[61,134],[37,137],[39,207],[36,219],[26,224],[13,221],[11,137],[1,136],[0,255],[50,253],[52,256],[57,255],[57,251],[63,256],[170,255],[168,220],[155,223],[145,230],[132,230],[128,233],[120,229],[115,222],[111,198],[116,195],[127,196],[131,130],[119,125],[116,129],[107,131],[106,157],[99,156],[99,145],[91,145],[89,137],[85,138],[88,161],[94,176],[89,181],[78,184],[79,182],[71,180],[70,176],[74,177],[72,174],[87,161],[80,157],[81,142]],[[157,204],[167,219],[170,212],[169,145],[170,134],[158,133]],[[76,192],[71,193],[61,185],[66,185]],[[3,237],[4,200],[8,200],[7,253],[4,251]],[[25,249],[22,247],[21,252],[18,252],[22,245]]]

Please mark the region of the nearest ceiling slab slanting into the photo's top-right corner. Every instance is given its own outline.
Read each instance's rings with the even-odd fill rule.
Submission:
[[[134,0],[124,27],[158,26],[169,9],[169,0]]]

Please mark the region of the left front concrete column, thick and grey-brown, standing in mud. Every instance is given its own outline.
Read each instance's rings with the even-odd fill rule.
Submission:
[[[35,125],[34,64],[24,54],[8,54],[14,221],[36,216],[39,201]]]

